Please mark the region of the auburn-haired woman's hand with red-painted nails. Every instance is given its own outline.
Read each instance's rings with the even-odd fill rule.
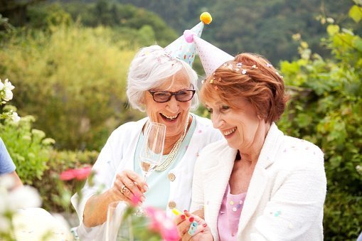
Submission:
[[[193,232],[192,235],[188,233],[190,229],[191,223],[196,221],[198,226]],[[197,240],[197,241],[212,241],[213,235],[211,234],[211,229],[208,227],[208,224],[205,220],[198,217],[198,215],[191,215],[188,211],[184,211],[184,213],[177,215],[174,219],[174,222],[177,225],[177,230],[179,231],[179,236],[181,240]]]

